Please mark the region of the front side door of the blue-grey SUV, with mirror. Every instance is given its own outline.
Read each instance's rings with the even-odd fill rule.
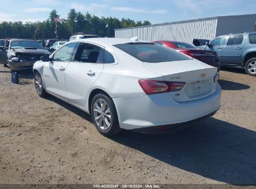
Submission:
[[[217,52],[219,57],[219,62],[222,62],[222,55],[224,51],[225,40],[226,40],[225,36],[217,37],[216,39],[210,42],[209,46],[206,47],[206,50],[213,50]]]

